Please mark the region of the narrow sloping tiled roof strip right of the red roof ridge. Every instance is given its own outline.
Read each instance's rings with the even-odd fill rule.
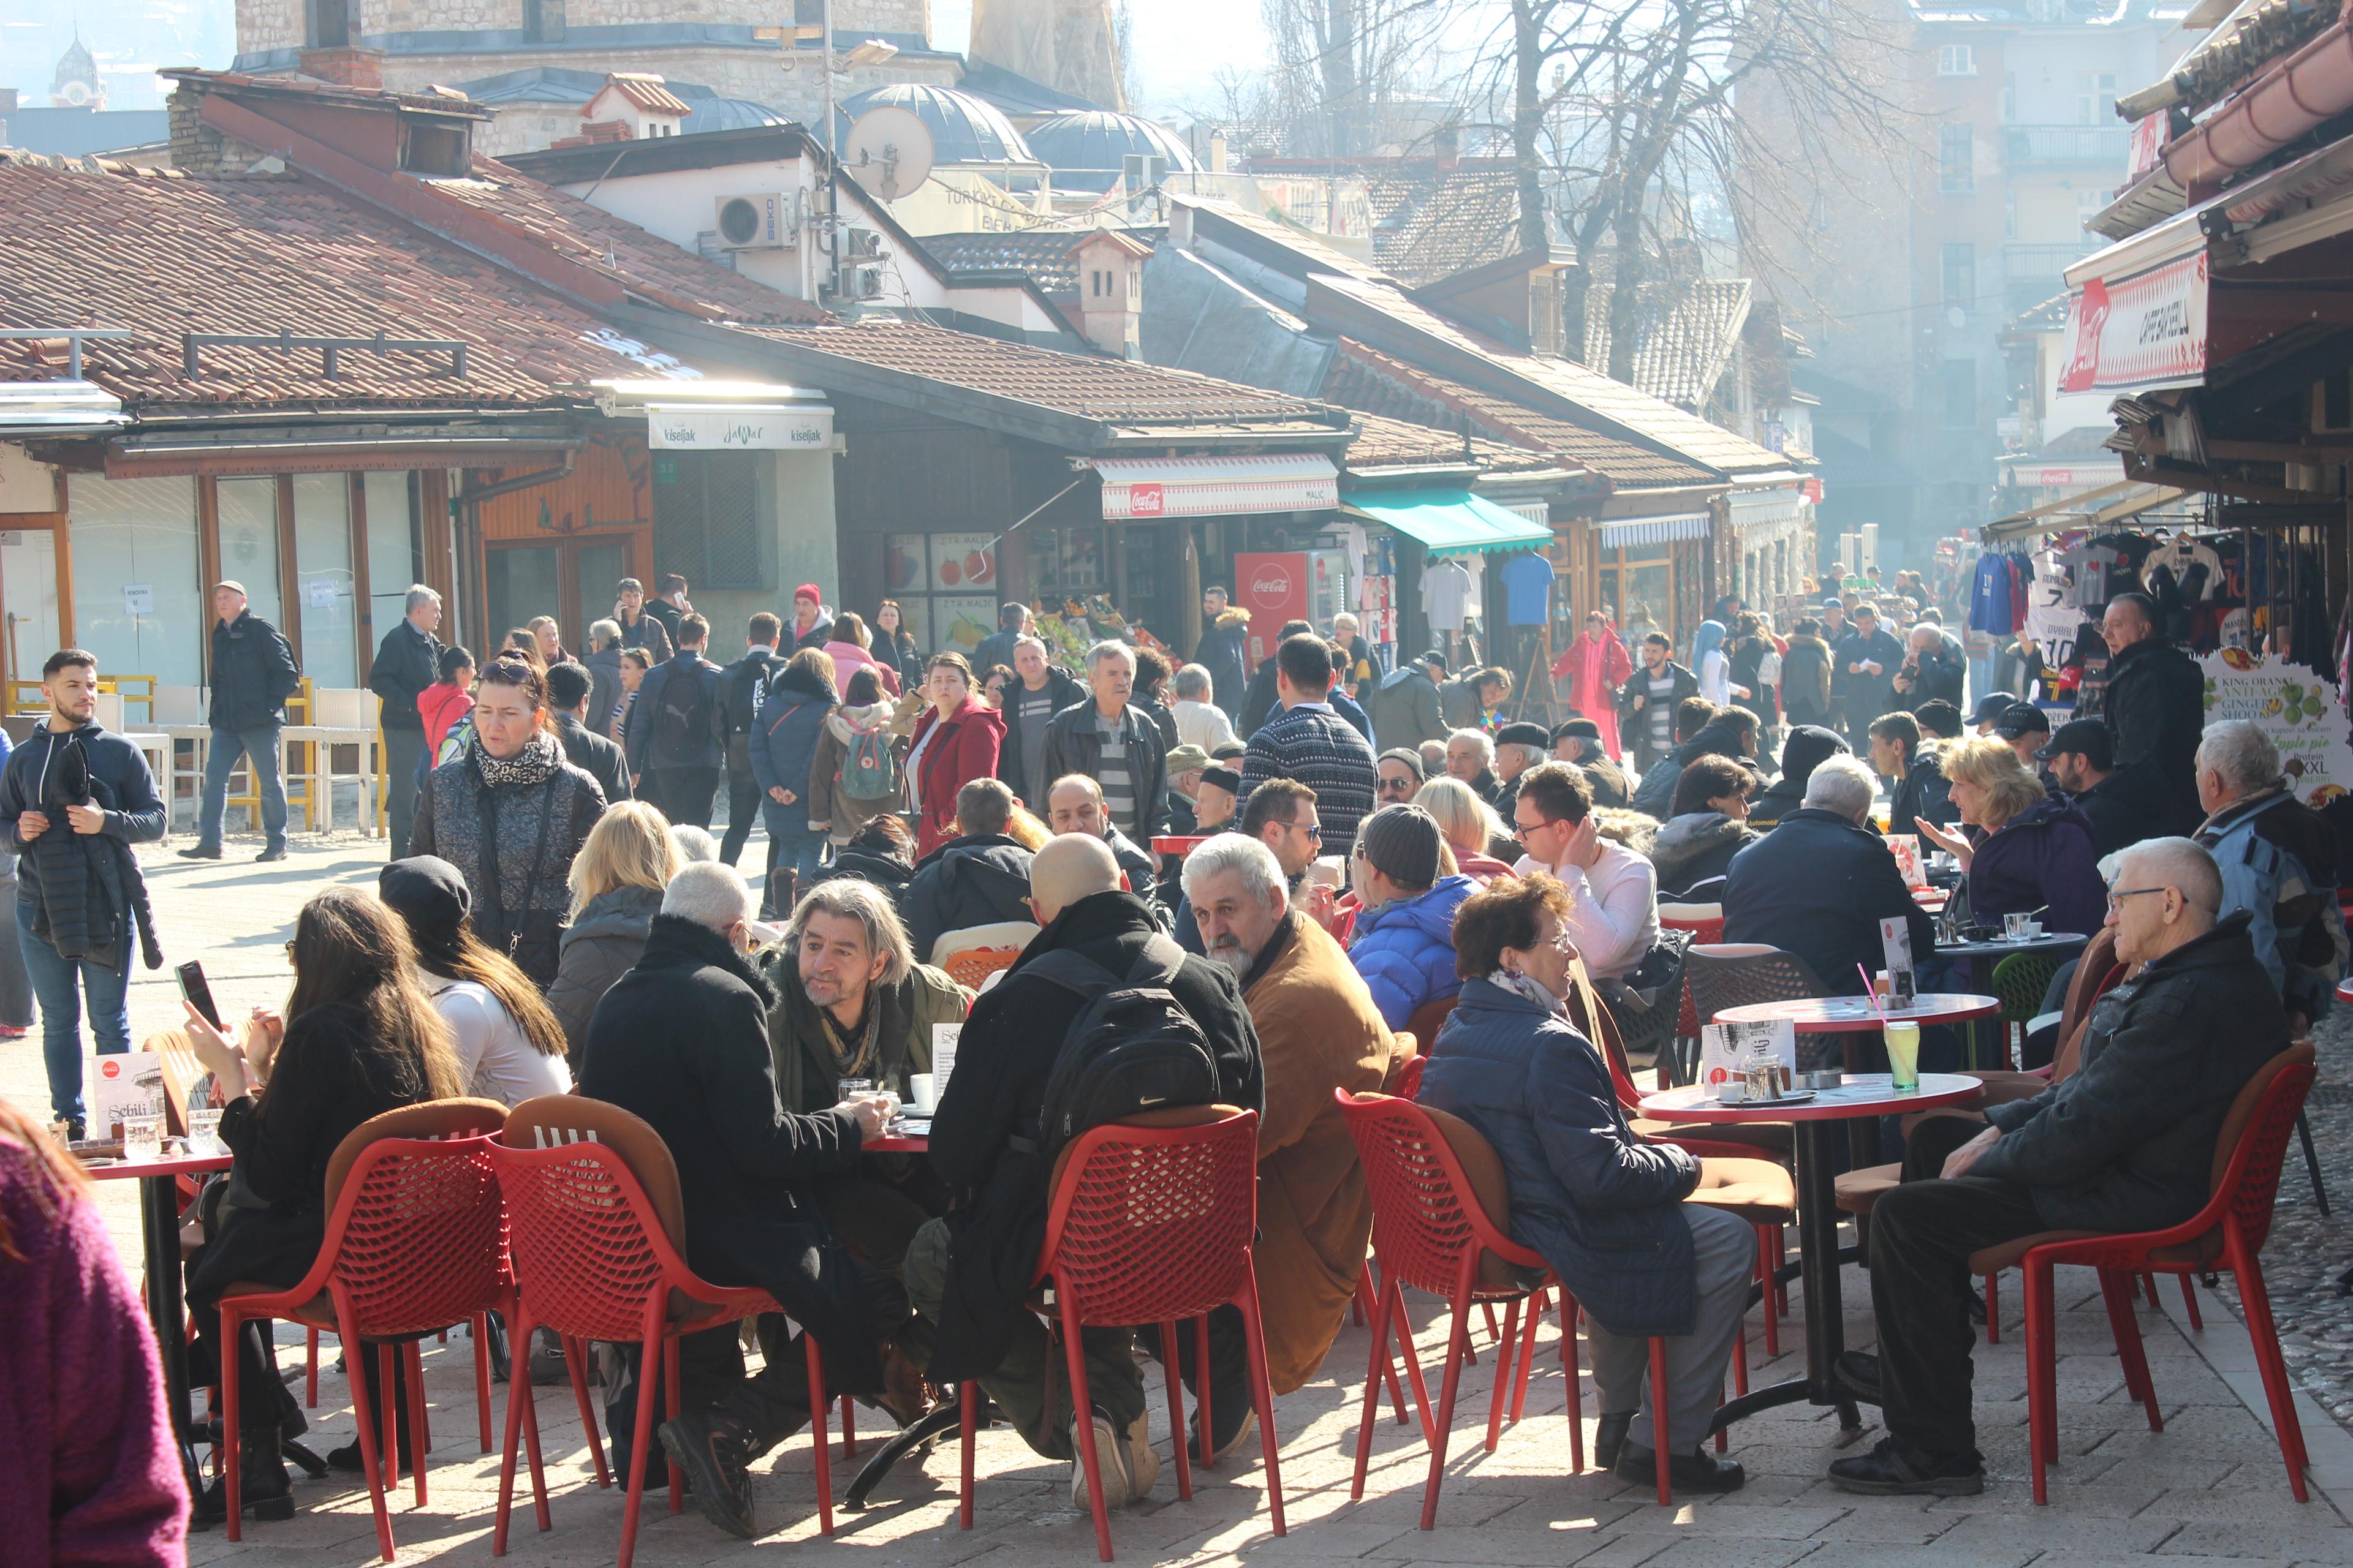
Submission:
[[[473,160],[473,179],[438,179],[421,188],[473,207],[558,256],[612,270],[624,287],[680,310],[746,322],[826,320],[826,313],[807,301],[704,261],[628,219],[600,212],[555,186],[541,186],[492,158]]]

